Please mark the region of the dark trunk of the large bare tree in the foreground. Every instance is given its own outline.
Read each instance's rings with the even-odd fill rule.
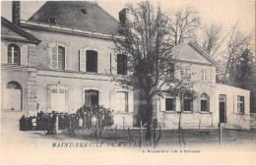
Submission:
[[[146,120],[147,120],[147,132],[146,132],[146,140],[151,141],[152,140],[152,136],[153,136],[153,100],[147,99],[147,113],[146,113]]]

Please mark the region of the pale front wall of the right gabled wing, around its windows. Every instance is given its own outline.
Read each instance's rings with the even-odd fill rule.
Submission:
[[[189,53],[188,53],[189,55]],[[218,121],[216,119],[216,68],[214,66],[201,64],[201,63],[189,63],[183,62],[182,66],[190,66],[191,81],[195,82],[193,89],[196,91],[196,97],[193,100],[193,112],[184,112],[182,113],[181,125],[182,128],[213,128],[218,126]],[[208,71],[207,81],[202,81],[202,69],[205,67]],[[210,99],[210,111],[201,112],[201,94],[206,93]],[[160,123],[164,123],[165,129],[177,129],[179,115],[176,112],[180,112],[181,103],[180,99],[176,99],[176,108],[175,111],[169,112],[162,110],[161,107],[165,106],[165,97],[159,98],[158,100],[158,119]]]

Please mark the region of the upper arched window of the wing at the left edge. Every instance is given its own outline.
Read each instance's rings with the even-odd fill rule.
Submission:
[[[8,63],[21,64],[21,51],[16,44],[10,44],[8,46]]]

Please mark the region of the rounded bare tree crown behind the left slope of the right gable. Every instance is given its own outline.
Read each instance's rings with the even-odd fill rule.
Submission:
[[[186,7],[175,11],[170,18],[170,34],[173,45],[191,40],[195,37],[195,31],[200,25],[198,12]]]

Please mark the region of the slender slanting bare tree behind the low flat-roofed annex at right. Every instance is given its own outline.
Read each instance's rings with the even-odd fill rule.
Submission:
[[[233,70],[237,57],[248,47],[250,40],[251,35],[242,33],[238,29],[237,24],[231,27],[231,32],[227,36],[227,48],[224,51],[226,54],[226,63],[222,83],[228,83],[227,75],[229,75],[229,71]]]

